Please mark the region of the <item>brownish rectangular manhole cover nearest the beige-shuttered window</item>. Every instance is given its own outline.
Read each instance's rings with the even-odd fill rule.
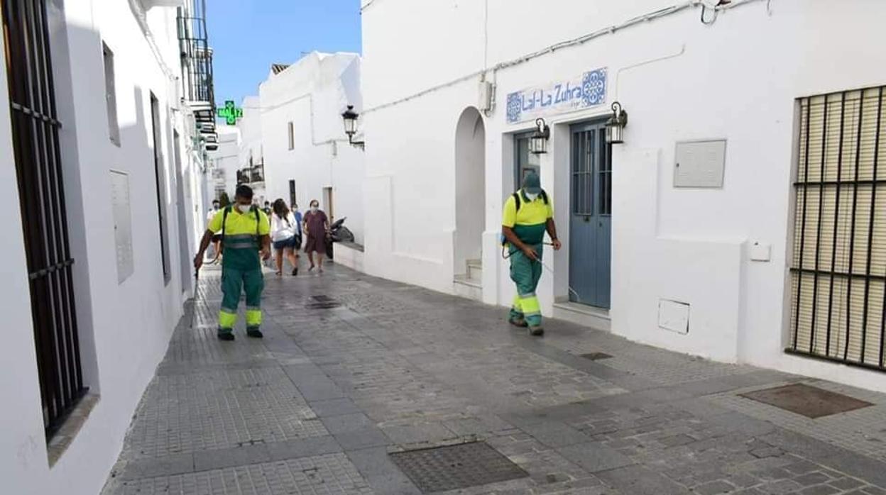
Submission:
[[[826,391],[803,383],[775,387],[763,391],[740,394],[770,406],[780,407],[791,413],[803,414],[807,418],[820,418],[831,414],[854,411],[862,407],[874,406],[870,402],[851,398],[841,393]]]

